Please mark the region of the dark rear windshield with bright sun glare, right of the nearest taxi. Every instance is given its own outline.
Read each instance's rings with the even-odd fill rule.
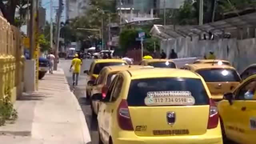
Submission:
[[[232,69],[198,70],[206,82],[240,82],[240,76]]]

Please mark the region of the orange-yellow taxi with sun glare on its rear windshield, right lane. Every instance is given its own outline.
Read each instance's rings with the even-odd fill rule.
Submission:
[[[225,64],[186,64],[182,69],[200,74],[214,100],[221,100],[224,93],[232,92],[241,82],[236,69]]]

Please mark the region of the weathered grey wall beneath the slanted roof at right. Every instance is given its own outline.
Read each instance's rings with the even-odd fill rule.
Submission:
[[[193,38],[192,41],[190,38],[178,38],[162,40],[160,46],[168,56],[173,48],[179,58],[203,57],[213,50],[216,58],[229,60],[238,72],[242,72],[250,64],[256,63],[256,38],[244,40],[198,40]]]

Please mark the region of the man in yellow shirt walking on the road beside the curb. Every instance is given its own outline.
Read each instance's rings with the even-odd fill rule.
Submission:
[[[78,54],[75,55],[75,58],[71,62],[70,70],[74,67],[73,70],[73,86],[78,84],[78,76],[80,74],[80,68],[82,65],[82,61],[78,58]]]

